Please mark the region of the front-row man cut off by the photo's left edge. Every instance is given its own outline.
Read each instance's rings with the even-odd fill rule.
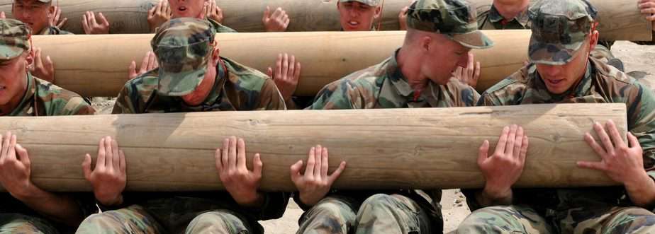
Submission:
[[[0,116],[93,115],[79,95],[28,71],[34,62],[28,25],[0,19]],[[0,136],[0,233],[59,233],[94,211],[71,194],[40,189],[30,180],[30,156],[16,135]],[[77,197],[77,196],[75,196]]]

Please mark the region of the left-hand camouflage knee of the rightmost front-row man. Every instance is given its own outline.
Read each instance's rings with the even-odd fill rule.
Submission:
[[[491,206],[478,209],[459,224],[464,233],[554,233],[534,209],[525,206]]]

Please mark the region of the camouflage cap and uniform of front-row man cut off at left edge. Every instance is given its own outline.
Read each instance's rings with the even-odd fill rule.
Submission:
[[[13,19],[0,19],[0,62],[16,59],[30,49],[30,30]],[[16,78],[18,79],[18,78]],[[94,109],[77,94],[26,74],[26,93],[11,112],[0,116],[93,115]],[[15,82],[15,81],[14,81]],[[81,213],[91,213],[92,202],[77,200]],[[58,233],[51,223],[7,192],[0,193],[0,233]]]

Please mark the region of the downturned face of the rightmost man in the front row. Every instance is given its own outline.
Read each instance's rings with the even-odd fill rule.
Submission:
[[[576,86],[583,78],[587,71],[589,53],[595,47],[598,32],[595,35],[595,39],[594,36],[590,37],[568,64],[561,66],[537,64],[537,72],[539,72],[539,76],[542,77],[550,93],[565,93],[567,90],[573,88],[573,86]]]

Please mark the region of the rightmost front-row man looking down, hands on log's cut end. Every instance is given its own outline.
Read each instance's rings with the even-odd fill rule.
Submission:
[[[595,123],[587,143],[600,170],[622,187],[512,189],[525,165],[527,136],[504,129],[496,152],[480,148],[483,189],[464,191],[471,213],[458,233],[653,233],[655,214],[654,96],[634,78],[590,56],[598,42],[596,10],[586,0],[540,1],[530,8],[530,63],[483,93],[478,105],[625,103],[629,144],[614,123]],[[573,17],[571,17],[573,16]],[[506,142],[506,144],[503,144]],[[517,155],[518,148],[524,148]],[[504,151],[503,151],[504,149]],[[514,150],[513,150],[514,149]]]

